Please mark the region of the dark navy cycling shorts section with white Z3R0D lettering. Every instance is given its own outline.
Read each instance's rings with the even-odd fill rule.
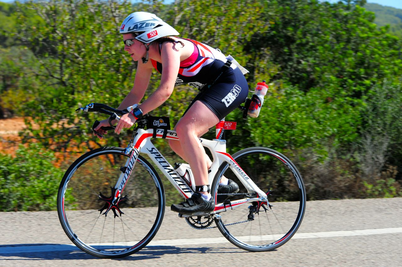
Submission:
[[[187,110],[189,110],[195,101],[200,100],[215,113],[219,120],[222,120],[226,115],[244,103],[247,96],[248,84],[243,73],[239,68],[229,68],[222,73],[211,87],[199,93]]]

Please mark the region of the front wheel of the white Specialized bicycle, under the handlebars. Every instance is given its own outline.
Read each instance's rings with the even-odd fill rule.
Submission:
[[[60,183],[57,211],[70,240],[102,258],[131,255],[158,231],[165,196],[155,169],[142,156],[131,172],[120,201],[108,210],[129,155],[123,148],[99,148],[76,160]]]

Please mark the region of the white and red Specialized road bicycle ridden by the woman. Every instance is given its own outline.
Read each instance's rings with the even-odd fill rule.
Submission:
[[[98,111],[112,119],[128,112],[100,103],[77,110]],[[57,211],[77,247],[96,257],[119,258],[144,248],[155,236],[166,206],[164,186],[140,154],[150,158],[183,198],[191,197],[194,181],[180,176],[152,144],[152,138],[178,140],[176,131],[164,127],[168,124],[167,117],[145,115],[135,123],[127,148],[92,150],[68,168],[59,186]],[[221,121],[215,139],[200,138],[213,158],[208,179],[215,210],[179,217],[195,229],[217,227],[241,249],[271,251],[289,241],[301,224],[306,209],[304,183],[293,163],[275,150],[252,147],[228,154],[222,136],[233,124]],[[235,181],[239,191],[219,194],[222,176]]]

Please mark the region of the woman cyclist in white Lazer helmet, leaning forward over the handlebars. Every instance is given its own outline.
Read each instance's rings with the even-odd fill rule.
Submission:
[[[134,12],[120,26],[124,50],[138,61],[133,88],[118,109],[132,107],[121,117],[115,132],[131,127],[142,115],[156,109],[172,94],[175,85],[189,84],[201,91],[176,124],[180,141],[169,140],[176,154],[190,164],[196,192],[191,198],[173,204],[171,209],[181,214],[211,212],[215,201],[211,197],[208,168],[211,160],[205,154],[199,137],[243,103],[248,85],[240,69],[219,50],[186,38],[172,37],[179,33],[155,14]],[[162,71],[163,67],[163,71]],[[161,73],[159,87],[141,104],[152,70]],[[95,131],[109,126],[109,119],[100,121]],[[238,185],[222,178],[219,193],[238,192]]]

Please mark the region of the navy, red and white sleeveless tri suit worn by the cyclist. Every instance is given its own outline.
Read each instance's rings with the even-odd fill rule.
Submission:
[[[194,51],[189,58],[180,62],[175,85],[189,84],[201,90],[201,93],[195,97],[189,107],[195,101],[200,100],[222,120],[246,100],[248,95],[247,81],[235,64],[230,65],[222,73],[222,67],[227,59],[221,51],[195,40],[185,40],[194,44]],[[161,48],[162,43],[159,44],[159,53]],[[151,61],[154,68],[162,73],[162,64],[153,59]],[[219,76],[219,74],[221,75]],[[219,78],[216,79],[218,76]],[[212,85],[211,79],[212,81],[216,79]],[[207,88],[208,85],[211,86]]]

